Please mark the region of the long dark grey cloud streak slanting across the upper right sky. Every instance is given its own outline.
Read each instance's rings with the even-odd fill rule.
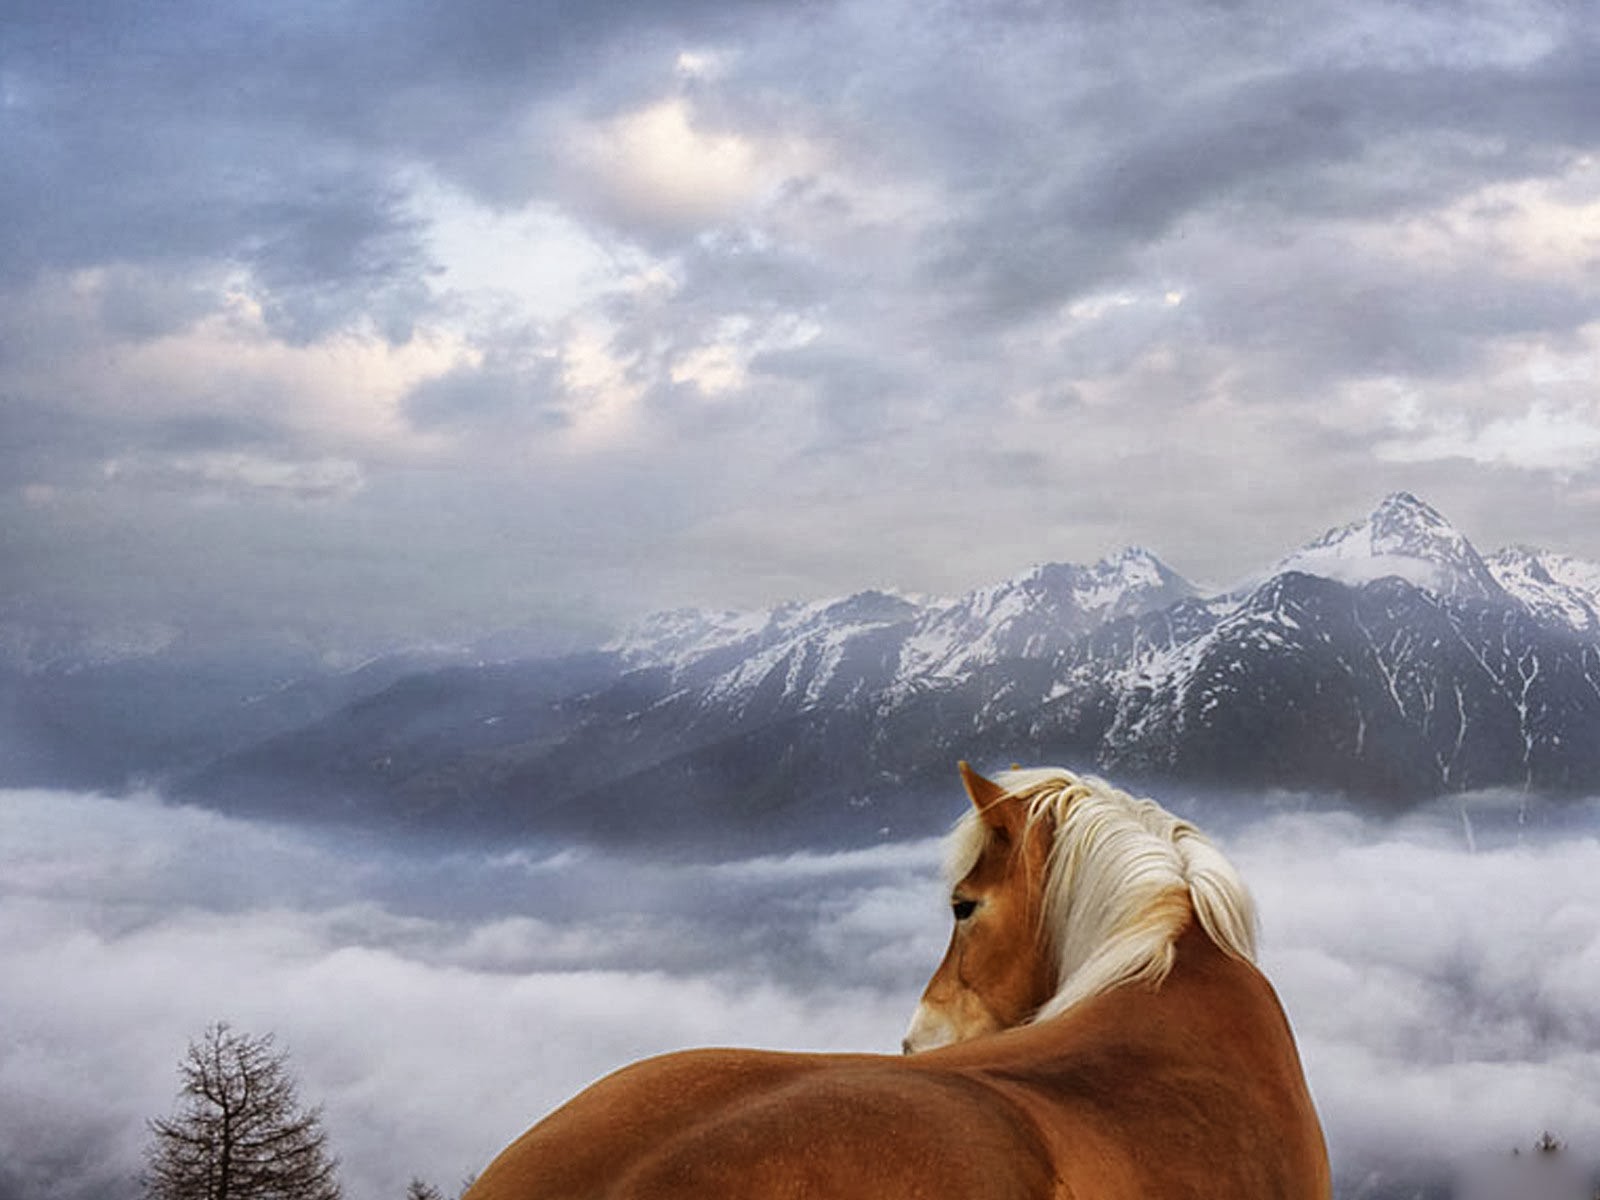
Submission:
[[[1597,74],[1600,51],[1582,40],[1526,66],[1309,64],[1107,85],[1058,126],[965,147],[968,170],[992,162],[995,186],[938,234],[930,282],[971,290],[963,320],[1010,322],[1131,272],[1195,213],[1293,229],[1550,171],[1595,146]]]

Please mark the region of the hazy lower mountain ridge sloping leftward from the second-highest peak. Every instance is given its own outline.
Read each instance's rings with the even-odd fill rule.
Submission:
[[[405,680],[224,758],[190,794],[301,814],[336,797],[342,813],[406,826],[656,840],[926,829],[939,810],[912,794],[944,789],[970,731],[1045,702],[1048,664],[1083,634],[1192,592],[1128,550],[955,602],[861,592],[656,614],[592,656]]]

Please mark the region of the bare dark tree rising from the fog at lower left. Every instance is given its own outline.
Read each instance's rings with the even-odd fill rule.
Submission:
[[[322,1109],[301,1109],[270,1034],[211,1026],[178,1074],[178,1112],[150,1122],[149,1200],[339,1200]]]

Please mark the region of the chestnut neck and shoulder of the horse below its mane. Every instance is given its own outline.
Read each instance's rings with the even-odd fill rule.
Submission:
[[[1074,1194],[1330,1195],[1326,1149],[1277,995],[1198,925],[1179,936],[1160,986],[1123,984],[965,1045],[965,1067],[1034,1117],[1058,1165],[1085,1173],[1072,1174]],[[1200,1139],[1208,1150],[1203,1160],[1130,1158],[1128,1131],[1144,1146]],[[1096,1162],[1120,1165],[1106,1176]]]

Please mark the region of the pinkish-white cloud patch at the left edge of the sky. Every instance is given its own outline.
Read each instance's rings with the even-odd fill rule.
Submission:
[[[128,336],[106,325],[102,307],[114,283],[131,286],[136,275],[46,275],[11,296],[13,309],[29,314],[30,339],[0,365],[0,387],[50,397],[126,445],[107,459],[114,475],[347,493],[360,486],[360,459],[403,462],[438,448],[411,427],[402,402],[418,384],[477,362],[443,326],[418,328],[400,344],[374,330],[283,341],[243,278],[192,320]],[[224,445],[170,446],[195,429]],[[251,437],[306,450],[291,458],[237,445]]]

